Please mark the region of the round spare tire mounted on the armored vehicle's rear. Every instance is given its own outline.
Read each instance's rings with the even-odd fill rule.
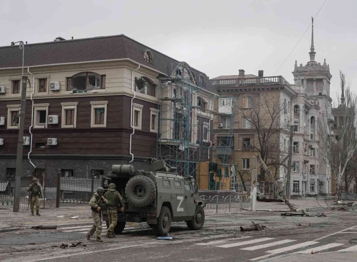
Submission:
[[[155,184],[148,176],[136,175],[126,183],[125,196],[129,204],[137,207],[147,206],[155,199]]]

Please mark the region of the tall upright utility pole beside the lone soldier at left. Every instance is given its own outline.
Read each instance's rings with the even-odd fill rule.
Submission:
[[[19,114],[19,138],[17,142],[17,157],[16,157],[16,175],[15,175],[15,197],[13,212],[18,212],[20,209],[20,187],[22,174],[22,156],[24,152],[24,125],[25,125],[25,107],[26,107],[26,87],[28,78],[22,76],[21,88],[21,107]],[[8,119],[11,121],[12,119]],[[32,141],[30,141],[31,143]]]

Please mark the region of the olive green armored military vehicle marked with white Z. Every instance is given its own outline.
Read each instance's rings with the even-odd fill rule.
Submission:
[[[177,175],[176,168],[164,160],[149,158],[151,172],[135,170],[132,165],[113,165],[111,175],[103,178],[123,197],[124,212],[118,212],[115,233],[124,230],[126,222],[147,222],[159,236],[169,233],[171,222],[186,221],[190,230],[199,230],[205,222],[205,202],[197,195],[193,177]],[[102,212],[103,221],[108,214]]]

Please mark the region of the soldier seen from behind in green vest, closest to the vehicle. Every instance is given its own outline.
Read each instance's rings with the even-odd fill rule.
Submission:
[[[109,218],[108,232],[105,236],[113,238],[115,237],[114,228],[118,222],[118,204],[120,204],[120,211],[124,212],[124,201],[119,192],[115,189],[116,185],[114,183],[110,183],[108,187],[109,190],[104,194],[104,197],[108,200],[106,206]]]

